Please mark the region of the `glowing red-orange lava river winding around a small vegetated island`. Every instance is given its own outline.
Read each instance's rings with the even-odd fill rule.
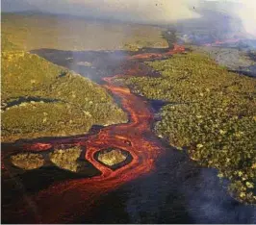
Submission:
[[[184,47],[175,45],[174,49],[157,54],[157,58],[184,52]],[[129,57],[128,60],[148,59],[152,54],[144,53]],[[116,77],[103,78],[104,85],[109,91],[120,99],[124,111],[128,112],[130,119],[128,123],[112,125],[102,128],[98,134],[85,137],[56,138],[47,143],[31,143],[24,145],[25,150],[30,152],[46,151],[51,147],[60,145],[81,146],[86,148],[85,158],[92,163],[101,175],[92,178],[66,180],[55,183],[50,188],[39,191],[30,196],[33,207],[24,198],[18,205],[20,212],[18,217],[27,218],[28,222],[39,223],[67,223],[73,222],[81,215],[87,214],[91,204],[107,191],[113,190],[122,184],[138,178],[154,168],[154,162],[164,151],[161,142],[151,132],[153,112],[148,103],[140,96],[133,94],[127,87],[114,85]],[[143,74],[141,74],[143,75]],[[132,162],[112,170],[97,162],[95,154],[109,147],[116,147],[128,151]],[[27,205],[24,210],[24,205]],[[22,209],[23,208],[23,209]]]

